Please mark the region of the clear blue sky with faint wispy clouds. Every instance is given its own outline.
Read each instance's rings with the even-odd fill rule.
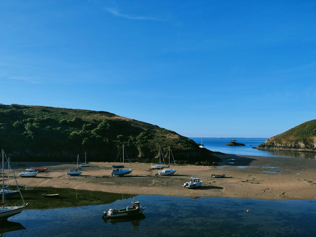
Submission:
[[[316,119],[315,12],[315,1],[0,1],[0,103],[271,137]]]

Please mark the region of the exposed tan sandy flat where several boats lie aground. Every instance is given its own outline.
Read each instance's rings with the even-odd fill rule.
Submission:
[[[166,195],[182,197],[236,197],[265,200],[316,198],[316,160],[289,157],[217,155],[218,166],[177,166],[170,176],[159,176],[149,163],[132,163],[129,175],[111,177],[113,163],[91,162],[81,176],[66,173],[76,164],[33,162],[28,167],[48,168],[35,178],[17,177],[20,186],[74,188],[125,194]],[[15,174],[27,167],[15,166]],[[126,165],[126,164],[125,164]],[[127,167],[127,166],[125,166]],[[171,166],[171,168],[174,168]],[[212,178],[211,174],[226,174]],[[201,187],[187,189],[182,185],[194,176],[204,180]],[[12,181],[10,181],[12,184]]]

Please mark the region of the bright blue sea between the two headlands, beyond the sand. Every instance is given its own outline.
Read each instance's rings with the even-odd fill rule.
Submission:
[[[196,143],[201,143],[201,137],[190,137]],[[256,155],[256,156],[288,156],[316,159],[316,152],[301,152],[301,151],[264,151],[253,149],[252,147],[264,143],[268,138],[243,138],[243,137],[229,137],[229,138],[202,138],[204,148],[211,151],[219,151],[226,154],[234,155]],[[244,143],[246,146],[226,146],[231,140],[236,140],[237,143]],[[252,146],[250,146],[252,145]]]

